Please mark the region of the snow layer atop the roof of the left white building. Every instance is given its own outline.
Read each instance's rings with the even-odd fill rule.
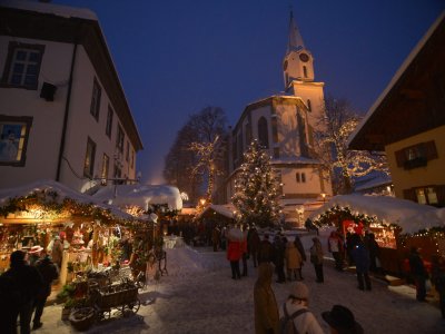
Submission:
[[[0,7],[17,8],[41,13],[55,14],[63,18],[80,18],[98,21],[95,12],[86,8],[73,8],[55,3],[24,0],[2,0]]]

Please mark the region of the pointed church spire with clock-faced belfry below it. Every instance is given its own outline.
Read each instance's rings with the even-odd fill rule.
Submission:
[[[286,56],[283,60],[285,88],[297,81],[314,81],[314,58],[306,49],[301,35],[295,23],[294,12],[290,10],[289,37]]]

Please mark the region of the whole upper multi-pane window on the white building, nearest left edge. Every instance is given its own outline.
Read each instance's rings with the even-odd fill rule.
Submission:
[[[3,86],[37,89],[44,46],[10,42]]]

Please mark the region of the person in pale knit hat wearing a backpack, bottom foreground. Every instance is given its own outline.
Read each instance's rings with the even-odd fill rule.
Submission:
[[[279,333],[323,334],[317,318],[308,310],[309,289],[306,284],[297,282],[283,304],[284,316],[279,320]]]

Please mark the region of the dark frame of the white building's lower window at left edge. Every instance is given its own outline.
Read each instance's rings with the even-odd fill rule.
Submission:
[[[16,159],[13,159],[13,160],[12,159],[11,160],[8,160],[8,159],[0,160],[0,166],[23,167],[26,165],[27,148],[28,148],[28,141],[29,141],[29,134],[30,134],[31,126],[32,126],[32,119],[33,119],[32,117],[28,117],[28,116],[0,115],[0,140],[1,140],[0,141],[0,153],[3,150],[3,144],[4,144],[4,146],[7,145],[7,143],[2,143],[3,141],[3,136],[6,135],[6,134],[2,134],[4,125],[21,126],[21,128],[20,128],[20,138],[18,139],[18,144],[17,144],[17,147],[16,147],[16,149],[17,149]],[[23,127],[24,127],[24,134],[23,134]],[[17,159],[17,157],[19,155],[20,155],[20,158]]]

